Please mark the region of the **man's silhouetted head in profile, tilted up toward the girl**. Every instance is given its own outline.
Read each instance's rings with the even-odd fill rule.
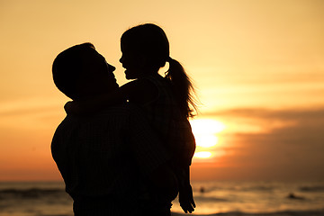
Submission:
[[[58,89],[76,100],[118,88],[109,65],[91,43],[68,48],[54,59],[52,73]]]

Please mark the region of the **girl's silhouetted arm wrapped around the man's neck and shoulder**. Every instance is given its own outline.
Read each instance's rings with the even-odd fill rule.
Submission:
[[[101,94],[82,101],[69,102],[65,105],[67,113],[86,114],[99,112],[105,107],[129,100],[132,103],[145,104],[157,98],[157,86],[148,79],[139,79],[121,85],[109,94]]]

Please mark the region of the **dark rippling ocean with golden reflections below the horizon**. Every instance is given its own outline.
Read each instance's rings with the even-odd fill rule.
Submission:
[[[193,181],[195,215],[324,216],[324,182]],[[173,215],[184,214],[177,200]],[[71,216],[62,182],[0,183],[0,216]],[[152,214],[154,215],[154,214]]]

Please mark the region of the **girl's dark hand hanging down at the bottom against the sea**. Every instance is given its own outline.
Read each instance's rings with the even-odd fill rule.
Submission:
[[[193,189],[190,184],[180,186],[179,202],[185,213],[192,213],[194,211],[195,203],[193,201]]]

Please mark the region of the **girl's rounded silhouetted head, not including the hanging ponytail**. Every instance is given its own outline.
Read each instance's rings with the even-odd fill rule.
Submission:
[[[166,65],[170,53],[169,42],[166,33],[156,24],[141,24],[122,34],[121,52],[120,61],[126,69],[136,64],[134,67],[141,73],[157,72]],[[138,76],[134,73],[130,75],[126,71],[126,78]]]

